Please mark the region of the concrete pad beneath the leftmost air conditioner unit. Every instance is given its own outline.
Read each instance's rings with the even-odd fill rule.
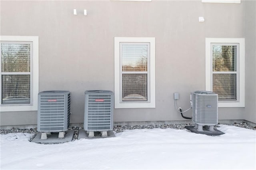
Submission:
[[[59,133],[60,132],[52,132],[51,134],[47,134],[46,139],[41,139],[42,132],[38,133],[35,138],[31,142],[35,143],[64,143],[64,142],[71,142],[73,135],[74,135],[75,130],[66,130],[64,138],[59,138]]]

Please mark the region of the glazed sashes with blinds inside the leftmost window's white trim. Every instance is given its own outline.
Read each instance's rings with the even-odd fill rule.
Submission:
[[[1,104],[30,103],[32,43],[1,43]]]

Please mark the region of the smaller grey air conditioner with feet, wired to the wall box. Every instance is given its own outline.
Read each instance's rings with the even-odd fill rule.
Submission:
[[[193,108],[192,121],[196,129],[202,131],[202,126],[209,126],[213,131],[218,124],[218,94],[211,91],[195,91],[191,93],[191,105]]]

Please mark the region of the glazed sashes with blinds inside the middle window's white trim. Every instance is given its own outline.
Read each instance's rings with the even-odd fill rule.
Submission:
[[[148,101],[149,43],[121,43],[122,101]]]

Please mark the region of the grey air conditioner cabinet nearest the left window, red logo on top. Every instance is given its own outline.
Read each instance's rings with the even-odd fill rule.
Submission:
[[[42,91],[38,93],[39,132],[62,132],[70,124],[70,92]]]

